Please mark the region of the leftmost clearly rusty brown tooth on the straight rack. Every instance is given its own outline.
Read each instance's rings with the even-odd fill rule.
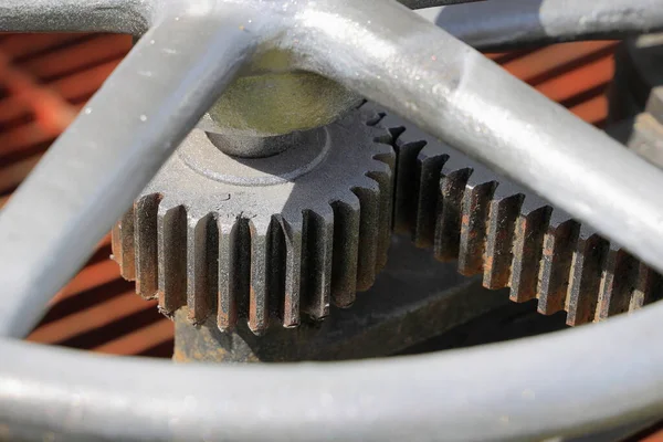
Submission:
[[[470,179],[472,179],[472,176]],[[465,276],[483,272],[486,219],[488,218],[491,199],[496,186],[495,181],[488,181],[469,187],[463,197],[459,272]]]

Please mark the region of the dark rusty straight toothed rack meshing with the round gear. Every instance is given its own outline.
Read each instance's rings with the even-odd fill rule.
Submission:
[[[394,232],[457,260],[487,288],[515,302],[567,312],[575,326],[631,312],[661,297],[661,275],[528,190],[394,116]]]

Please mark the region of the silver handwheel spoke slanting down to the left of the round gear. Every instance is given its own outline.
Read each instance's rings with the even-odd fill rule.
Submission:
[[[0,335],[24,336],[252,52],[241,15],[166,19],[0,215]]]

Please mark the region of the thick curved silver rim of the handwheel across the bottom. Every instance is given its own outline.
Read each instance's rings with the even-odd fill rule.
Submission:
[[[6,339],[0,417],[110,440],[540,440],[661,415],[661,315],[654,304],[463,350],[250,367],[84,356]]]

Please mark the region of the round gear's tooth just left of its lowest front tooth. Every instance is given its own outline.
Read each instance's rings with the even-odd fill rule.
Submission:
[[[251,233],[249,220],[217,220],[219,231],[219,293],[217,326],[222,332],[235,327],[240,312],[249,309],[251,277]]]

